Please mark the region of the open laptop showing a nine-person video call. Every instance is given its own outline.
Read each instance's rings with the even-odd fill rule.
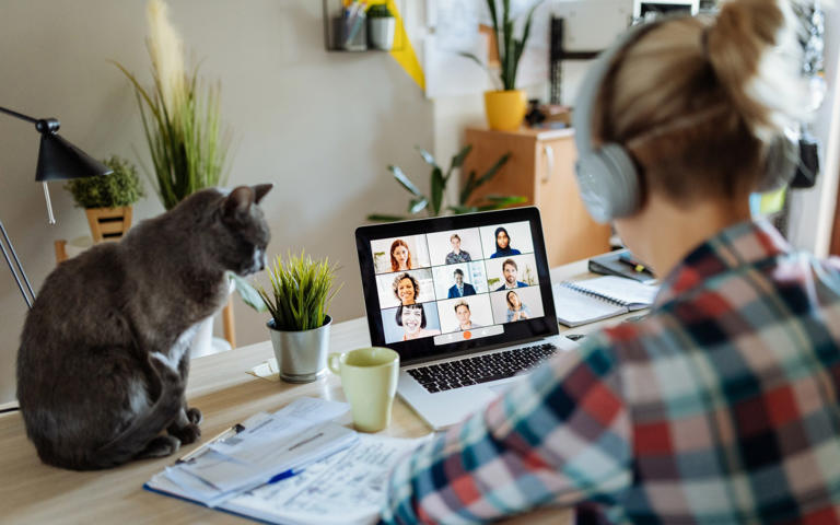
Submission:
[[[362,226],[355,243],[371,342],[399,353],[397,393],[435,430],[576,347],[536,208]]]

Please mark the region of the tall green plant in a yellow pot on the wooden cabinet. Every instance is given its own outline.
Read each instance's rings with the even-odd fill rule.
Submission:
[[[522,126],[522,120],[525,118],[525,112],[528,106],[525,91],[516,89],[516,70],[520,66],[522,52],[525,50],[525,44],[528,40],[534,10],[544,0],[537,0],[528,10],[521,38],[516,38],[514,35],[511,0],[501,0],[501,13],[499,12],[497,1],[487,0],[487,8],[490,11],[490,19],[493,23],[493,39],[495,40],[495,50],[499,55],[500,66],[498,78],[492,74],[491,78],[500,89],[485,92],[485,113],[490,129],[512,131]],[[475,55],[463,55],[487,69],[487,66],[481,63]]]

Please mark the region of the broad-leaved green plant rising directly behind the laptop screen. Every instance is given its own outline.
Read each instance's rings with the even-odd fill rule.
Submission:
[[[472,145],[468,144],[464,147],[463,150],[460,150],[455,156],[452,158],[452,162],[450,163],[448,170],[446,170],[446,174],[443,173],[443,170],[438,165],[434,156],[432,156],[431,153],[420,147],[415,148],[417,148],[417,151],[420,152],[420,155],[423,158],[427,164],[432,166],[431,192],[429,197],[423,195],[420,189],[418,189],[415,183],[408,178],[408,176],[399,166],[388,166],[390,173],[394,174],[394,178],[396,178],[397,182],[412,195],[412,198],[408,203],[408,212],[411,213],[411,215],[417,215],[423,210],[425,210],[428,217],[438,217],[441,214],[441,211],[444,210],[456,214],[471,213],[475,211],[495,210],[506,206],[525,202],[526,200],[525,197],[521,196],[487,195],[478,203],[467,203],[472,196],[472,191],[475,191],[483,184],[490,182],[499,172],[499,168],[501,168],[504,163],[508,162],[508,159],[511,156],[511,154],[505,153],[498,161],[495,161],[495,163],[490,166],[490,168],[485,172],[483,175],[477,176],[475,170],[470,171],[469,175],[467,176],[467,180],[464,183],[464,186],[458,194],[457,205],[445,206],[444,200],[446,196],[446,185],[452,177],[453,171],[464,164],[467,155],[469,155],[469,152],[472,150]],[[378,222],[401,221],[409,218],[410,217],[389,215],[383,213],[372,213],[368,215],[369,221]]]

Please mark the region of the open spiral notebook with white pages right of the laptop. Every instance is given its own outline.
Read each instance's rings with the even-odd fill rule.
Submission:
[[[658,287],[615,276],[563,281],[551,287],[557,320],[574,327],[648,308]]]

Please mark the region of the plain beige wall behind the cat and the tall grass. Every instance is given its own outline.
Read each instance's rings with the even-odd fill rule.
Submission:
[[[427,173],[413,144],[433,148],[432,104],[383,52],[327,52],[315,0],[170,0],[206,78],[222,83],[234,132],[231,185],[275,183],[265,208],[270,254],[305,247],[340,261],[332,313],[363,315],[353,230],[371,211],[401,211],[405,191],[386,165]],[[409,22],[421,2],[407,2]],[[0,8],[0,105],[57,117],[61,133],[95,156],[148,162],[139,113],[115,59],[151,79],[145,1],[4,0]],[[37,289],[55,266],[52,242],[86,233],[81,210],[52,184],[58,224],[48,226],[34,183],[38,135],[0,116],[0,219]],[[423,185],[425,177],[418,179]],[[150,194],[151,194],[151,188]],[[162,212],[151,195],[137,220]],[[0,269],[0,404],[14,398],[14,361],[25,306]],[[236,302],[240,345],[265,340],[266,316]],[[67,313],[72,316],[72,312]],[[80,328],[81,329],[81,328]],[[94,328],[95,329],[95,328]]]

